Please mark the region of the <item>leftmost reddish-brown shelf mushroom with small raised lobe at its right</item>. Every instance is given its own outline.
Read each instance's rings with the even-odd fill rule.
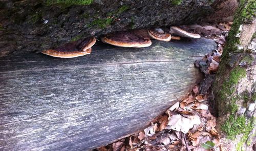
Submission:
[[[68,44],[57,47],[56,49],[41,51],[41,53],[58,58],[74,58],[84,56],[91,53],[91,47],[95,44],[95,42],[95,37],[88,37],[83,40],[69,42]]]

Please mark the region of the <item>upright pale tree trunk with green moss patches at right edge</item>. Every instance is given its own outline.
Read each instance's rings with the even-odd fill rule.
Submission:
[[[218,129],[230,150],[255,148],[256,2],[241,0],[214,82]]]

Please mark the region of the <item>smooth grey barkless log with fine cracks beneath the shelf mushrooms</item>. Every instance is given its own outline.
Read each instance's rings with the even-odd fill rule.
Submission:
[[[0,150],[88,150],[141,130],[201,78],[213,40],[0,58]]]

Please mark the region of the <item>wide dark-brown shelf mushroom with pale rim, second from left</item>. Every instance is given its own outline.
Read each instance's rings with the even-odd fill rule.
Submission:
[[[146,30],[120,31],[101,38],[102,42],[119,47],[148,47],[152,42]]]

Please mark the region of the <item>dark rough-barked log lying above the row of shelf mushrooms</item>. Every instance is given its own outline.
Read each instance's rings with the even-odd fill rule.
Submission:
[[[187,25],[213,11],[207,0],[97,0],[90,5],[0,1],[0,57],[112,31]]]

